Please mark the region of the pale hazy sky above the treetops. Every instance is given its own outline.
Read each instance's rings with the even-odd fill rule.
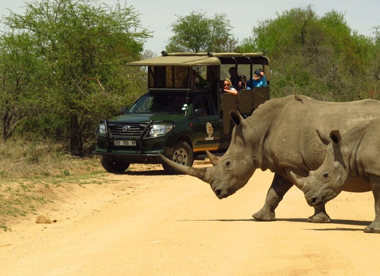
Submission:
[[[8,15],[10,9],[22,14],[25,2],[32,0],[0,0],[0,16]],[[117,0],[103,0],[108,5],[115,5]],[[235,6],[232,6],[232,2]],[[120,0],[123,6],[124,0]],[[144,44],[145,50],[151,50],[159,55],[168,43],[169,37],[173,35],[170,24],[177,20],[177,16],[186,16],[191,11],[201,11],[207,16],[214,14],[225,14],[233,27],[232,33],[241,42],[251,35],[252,27],[258,22],[266,19],[276,18],[291,8],[304,8],[309,4],[318,16],[335,10],[345,14],[345,20],[352,30],[359,34],[372,35],[375,26],[380,25],[380,1],[379,0],[127,0],[127,6],[133,6],[139,13],[141,25],[153,31],[153,37]],[[4,26],[0,23],[0,30]]]

